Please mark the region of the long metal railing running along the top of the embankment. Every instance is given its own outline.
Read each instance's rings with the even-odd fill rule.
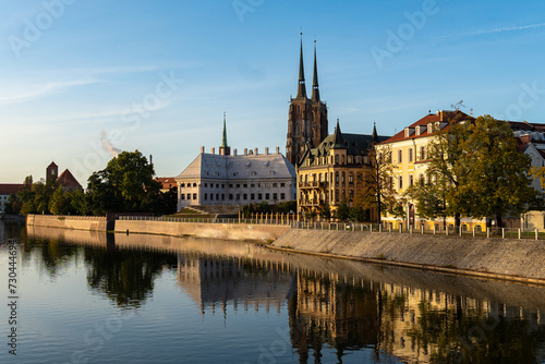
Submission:
[[[166,221],[166,222],[193,222],[193,223],[244,223],[244,225],[270,225],[289,226],[292,229],[302,230],[336,230],[336,231],[367,231],[372,233],[408,233],[408,234],[435,234],[435,235],[457,235],[457,236],[481,236],[501,239],[534,239],[545,240],[545,232],[535,230],[522,230],[516,228],[488,228],[482,230],[480,227],[471,230],[465,227],[438,227],[420,229],[409,227],[403,229],[392,229],[390,226],[379,223],[354,223],[354,222],[306,222],[292,219],[276,218],[275,216],[263,216],[259,218],[171,218],[171,217],[149,217],[149,216],[120,216],[119,220],[135,221]]]

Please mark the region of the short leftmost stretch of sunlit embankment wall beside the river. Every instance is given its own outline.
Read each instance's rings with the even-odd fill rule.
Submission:
[[[106,231],[106,217],[28,215],[27,226]]]

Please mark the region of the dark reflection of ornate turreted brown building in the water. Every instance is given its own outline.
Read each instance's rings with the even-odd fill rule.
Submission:
[[[298,294],[290,300],[290,335],[300,362],[312,351],[322,357],[322,347],[358,350],[377,342],[377,300],[372,286],[350,284],[338,275],[299,274]]]

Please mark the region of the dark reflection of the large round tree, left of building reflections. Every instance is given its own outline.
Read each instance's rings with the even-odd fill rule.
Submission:
[[[152,252],[85,250],[87,282],[119,306],[140,307],[152,296],[165,266],[175,269],[174,255]]]

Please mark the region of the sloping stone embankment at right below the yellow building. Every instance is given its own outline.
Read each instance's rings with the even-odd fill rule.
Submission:
[[[291,230],[271,246],[445,272],[545,283],[545,242],[536,240]]]

